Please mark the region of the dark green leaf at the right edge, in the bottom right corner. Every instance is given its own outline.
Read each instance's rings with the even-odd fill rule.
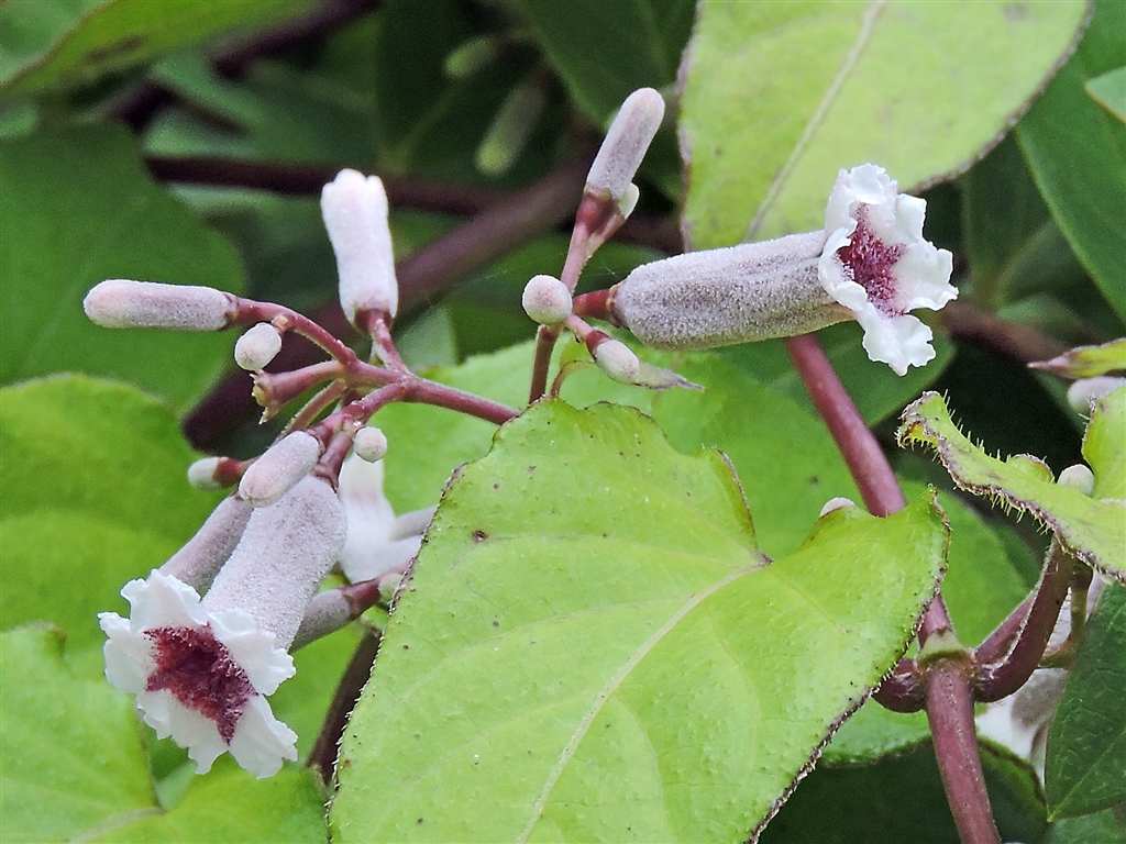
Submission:
[[[1048,728],[1044,788],[1053,819],[1126,801],[1126,586],[1108,584]]]

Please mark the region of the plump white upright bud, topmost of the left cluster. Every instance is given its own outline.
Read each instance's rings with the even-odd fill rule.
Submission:
[[[345,315],[352,324],[361,311],[394,316],[399,281],[383,182],[375,176],[341,170],[321,191],[321,214],[337,255]]]

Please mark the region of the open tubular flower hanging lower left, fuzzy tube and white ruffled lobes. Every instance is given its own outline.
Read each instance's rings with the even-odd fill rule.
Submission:
[[[296,734],[266,697],[294,674],[287,653],[343,545],[336,492],[306,477],[258,509],[207,594],[160,571],[125,584],[131,612],[99,616],[106,676],[161,737],[188,748],[197,773],[230,751],[259,779],[296,760]]]

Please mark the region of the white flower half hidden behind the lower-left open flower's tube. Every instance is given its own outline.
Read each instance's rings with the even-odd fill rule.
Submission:
[[[340,467],[340,501],[348,517],[348,538],[340,568],[352,583],[402,573],[422,545],[434,508],[395,518],[383,494],[383,461],[349,455]]]

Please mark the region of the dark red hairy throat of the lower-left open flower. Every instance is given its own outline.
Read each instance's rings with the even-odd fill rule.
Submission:
[[[188,709],[215,721],[230,745],[242,710],[256,693],[247,672],[207,627],[159,627],[144,635],[157,645],[157,670],[145,689],[168,689]]]

